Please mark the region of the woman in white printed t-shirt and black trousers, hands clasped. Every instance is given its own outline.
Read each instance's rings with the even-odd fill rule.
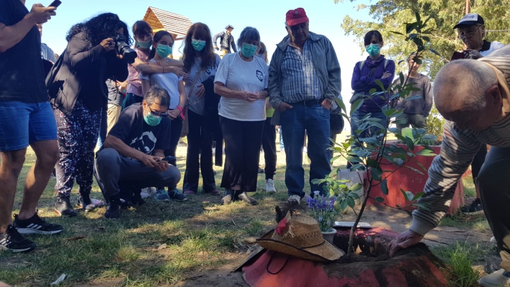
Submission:
[[[221,96],[218,114],[225,140],[221,179],[221,187],[225,188],[223,204],[238,198],[257,204],[247,192],[257,191],[268,96],[267,65],[261,58],[253,57],[259,41],[259,31],[246,27],[237,41],[239,53],[223,57],[214,79],[214,91]]]

